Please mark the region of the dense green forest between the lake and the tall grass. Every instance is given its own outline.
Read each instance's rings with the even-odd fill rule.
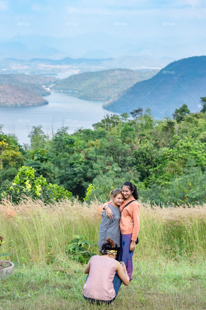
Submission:
[[[51,136],[33,126],[30,144],[0,131],[0,193],[80,201],[109,199],[113,188],[133,182],[142,201],[180,205],[206,197],[206,97],[200,113],[187,105],[173,118],[155,120],[148,108],[107,114],[93,129]],[[131,119],[132,117],[132,119]]]

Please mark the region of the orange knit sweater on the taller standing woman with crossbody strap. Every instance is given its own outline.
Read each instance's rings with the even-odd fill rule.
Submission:
[[[127,207],[124,208],[124,206],[130,202],[131,200],[135,200],[134,197],[132,197],[129,200],[125,200],[122,202],[122,204],[119,206],[119,210],[121,212],[121,219],[120,219],[120,231],[122,234],[127,235],[132,233],[131,240],[136,241],[138,232],[139,232],[139,203],[137,201],[131,202]],[[103,208],[105,206],[108,206],[112,201],[106,202],[103,205]],[[122,209],[124,210],[122,211]],[[131,226],[130,223],[134,221],[134,226]]]

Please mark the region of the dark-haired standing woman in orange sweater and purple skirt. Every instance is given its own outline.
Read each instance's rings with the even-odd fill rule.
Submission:
[[[119,210],[121,212],[121,219],[119,224],[121,231],[119,261],[123,261],[125,263],[127,274],[131,281],[133,271],[132,255],[135,250],[135,241],[137,240],[140,226],[139,203],[136,201],[139,196],[136,186],[128,181],[122,185],[122,194],[125,200],[119,206]],[[132,202],[126,206],[130,201]],[[111,219],[113,213],[112,210],[108,207],[110,203],[111,201],[109,201],[109,203],[105,203],[103,208],[106,209],[107,217]],[[134,226],[130,225],[132,221],[134,222]]]

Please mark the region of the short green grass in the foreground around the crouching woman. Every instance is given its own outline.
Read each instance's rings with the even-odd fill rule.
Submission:
[[[206,309],[205,277],[205,261],[172,263],[165,259],[135,259],[133,281],[128,287],[122,284],[114,307],[128,310]],[[84,300],[81,292],[85,278],[84,266],[68,259],[57,259],[50,265],[16,264],[15,275],[1,281],[0,309],[100,308]]]

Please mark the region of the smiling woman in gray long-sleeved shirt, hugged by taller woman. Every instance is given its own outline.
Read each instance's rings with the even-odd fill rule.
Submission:
[[[99,241],[98,246],[101,251],[102,244],[106,241],[106,238],[111,238],[118,246],[118,250],[120,248],[120,228],[119,222],[121,218],[121,213],[119,211],[119,206],[124,201],[124,197],[122,195],[121,188],[113,189],[110,193],[112,198],[112,203],[109,205],[109,208],[113,212],[113,217],[109,219],[106,216],[106,211],[102,212],[102,220],[99,228]],[[118,251],[119,252],[119,251]],[[118,260],[118,252],[117,252],[117,260]]]

